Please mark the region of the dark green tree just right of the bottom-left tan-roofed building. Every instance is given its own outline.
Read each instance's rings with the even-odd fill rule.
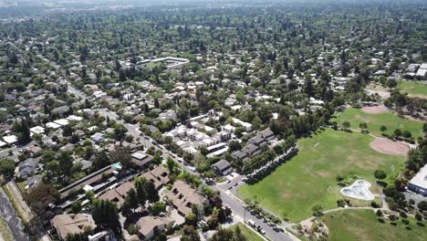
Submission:
[[[92,217],[96,225],[103,228],[109,227],[115,232],[121,233],[116,204],[108,200],[95,200],[92,206]]]

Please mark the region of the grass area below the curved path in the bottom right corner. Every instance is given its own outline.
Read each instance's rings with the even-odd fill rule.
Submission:
[[[386,241],[386,240],[427,240],[427,226],[419,226],[409,218],[411,230],[396,220],[396,226],[386,220],[381,224],[371,210],[346,210],[323,216],[329,228],[329,241]],[[423,222],[427,225],[426,222]]]

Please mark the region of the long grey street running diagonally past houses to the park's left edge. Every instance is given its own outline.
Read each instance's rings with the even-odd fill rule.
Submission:
[[[68,83],[68,91],[73,93],[74,95],[78,96],[80,99],[82,100],[86,100],[88,99],[88,97],[86,96],[85,93],[79,91],[78,89],[75,89],[71,86],[71,84]],[[117,123],[123,124],[123,126],[128,130],[128,133],[130,135],[132,135],[135,139],[139,138],[140,141],[144,144],[145,147],[150,148],[151,146],[153,146],[154,148],[156,148],[156,150],[161,150],[161,152],[163,153],[163,158],[167,158],[168,156],[172,155],[171,152],[169,152],[168,150],[166,150],[166,148],[160,144],[154,144],[154,141],[151,139],[151,137],[144,135],[140,130],[139,130],[139,125],[135,125],[135,124],[129,124],[129,123],[125,123],[123,120],[119,120],[119,116],[117,115],[117,113],[108,110],[108,109],[99,109],[99,113],[105,117],[109,117],[109,120],[112,121],[116,121]],[[178,160],[178,161],[177,161]],[[184,170],[186,170],[188,173],[192,173],[192,174],[196,174],[199,175],[198,173],[194,173],[193,172],[193,168],[183,164],[183,160],[181,157],[173,157],[173,161],[177,162],[180,166],[182,166],[182,168]],[[238,182],[240,182],[241,179],[237,179]],[[236,182],[236,181],[234,181]],[[203,183],[204,180],[203,180]],[[234,184],[234,183],[231,183]],[[249,212],[245,212],[245,208],[243,206],[243,204],[237,200],[233,194],[231,194],[231,192],[228,192],[228,190],[225,190],[220,188],[219,186],[211,186],[214,190],[219,191],[221,194],[221,197],[223,199],[223,203],[226,205],[229,205],[230,208],[232,209],[234,215],[238,215],[240,218],[245,219],[252,219],[255,221],[256,225],[261,225],[264,230],[266,230],[266,236],[272,240],[277,240],[277,241],[287,241],[287,240],[298,240],[295,236],[291,236],[286,234],[283,232],[276,232],[272,226],[267,225],[266,223],[264,223],[264,221],[258,217],[256,217],[255,215],[250,214]]]

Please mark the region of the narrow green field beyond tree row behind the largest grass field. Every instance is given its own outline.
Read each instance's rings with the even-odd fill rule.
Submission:
[[[361,122],[366,122],[368,124],[368,131],[377,136],[381,134],[381,125],[387,127],[387,131],[385,131],[387,134],[391,134],[396,129],[401,129],[401,131],[411,131],[414,138],[422,136],[422,121],[402,119],[393,113],[368,114],[359,109],[349,108],[342,112],[336,112],[335,116],[336,118],[331,121],[337,121],[338,124],[349,121],[351,129],[355,130],[359,130]]]

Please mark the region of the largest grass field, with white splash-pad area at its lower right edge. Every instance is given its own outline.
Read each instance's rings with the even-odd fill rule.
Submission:
[[[388,178],[399,173],[405,158],[372,150],[370,142],[373,140],[370,135],[359,132],[330,129],[314,134],[298,141],[297,156],[261,182],[245,184],[238,191],[280,217],[304,220],[312,215],[314,204],[321,204],[324,210],[337,207],[337,200],[342,197],[337,175],[348,181],[357,177],[373,183],[373,172],[377,169],[388,173]],[[379,188],[374,184],[371,190],[378,192]],[[367,205],[369,202],[354,204]]]

